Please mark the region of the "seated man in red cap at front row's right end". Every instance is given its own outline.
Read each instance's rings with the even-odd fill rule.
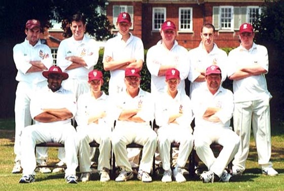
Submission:
[[[206,69],[206,86],[192,92],[193,113],[195,115],[194,149],[208,171],[200,175],[204,182],[214,182],[215,178],[229,182],[232,175],[225,167],[234,158],[239,137],[232,131],[230,120],[233,116],[233,93],[221,86],[222,72],[216,65]],[[215,158],[210,145],[216,142],[223,146],[219,156]]]

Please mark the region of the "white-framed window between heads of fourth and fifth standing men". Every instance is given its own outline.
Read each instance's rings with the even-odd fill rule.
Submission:
[[[179,9],[179,30],[192,31],[192,8]]]

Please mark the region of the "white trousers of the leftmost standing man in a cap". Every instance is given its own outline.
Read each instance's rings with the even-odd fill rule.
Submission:
[[[21,134],[26,126],[31,125],[29,110],[30,98],[37,88],[47,86],[47,81],[36,84],[20,81],[16,89],[15,99],[15,162],[21,159]],[[47,159],[47,148],[37,148],[38,159]]]

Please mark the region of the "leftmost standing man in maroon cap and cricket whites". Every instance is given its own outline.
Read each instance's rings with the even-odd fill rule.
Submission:
[[[46,86],[42,71],[47,70],[53,62],[49,47],[41,43],[40,21],[28,20],[25,25],[25,41],[13,48],[13,57],[18,70],[15,100],[15,166],[12,173],[21,173],[21,134],[31,124],[29,111],[30,97],[37,87]],[[40,158],[45,158],[41,151]],[[37,154],[40,154],[39,152]],[[43,161],[45,163],[45,161]],[[41,165],[44,165],[44,164]],[[49,170],[49,169],[47,169]]]

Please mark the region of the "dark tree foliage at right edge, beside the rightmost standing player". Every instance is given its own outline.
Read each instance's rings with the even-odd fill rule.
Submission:
[[[265,1],[260,19],[255,23],[255,40],[267,47],[269,59],[274,69],[284,69],[279,61],[283,60],[284,43],[284,1]],[[271,67],[270,67],[271,68]]]

